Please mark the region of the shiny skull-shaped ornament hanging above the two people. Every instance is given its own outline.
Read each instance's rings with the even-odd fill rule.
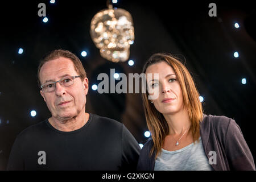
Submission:
[[[90,36],[102,57],[113,62],[126,61],[134,42],[133,19],[128,11],[107,6],[93,16]]]

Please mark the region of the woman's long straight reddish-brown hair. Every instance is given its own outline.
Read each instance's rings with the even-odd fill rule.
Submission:
[[[183,104],[188,110],[189,119],[191,121],[189,131],[192,132],[193,142],[196,142],[200,137],[200,121],[203,119],[203,107],[199,100],[199,92],[196,89],[195,83],[188,69],[173,55],[167,53],[155,53],[144,64],[143,73],[146,73],[146,69],[150,65],[160,63],[162,61],[170,65],[175,71],[183,94]],[[154,142],[150,155],[155,152],[156,159],[163,146],[164,138],[169,133],[169,127],[163,114],[159,113],[159,111],[155,109],[154,105],[148,100],[148,92],[142,93],[142,100],[147,127],[151,132],[151,137]]]

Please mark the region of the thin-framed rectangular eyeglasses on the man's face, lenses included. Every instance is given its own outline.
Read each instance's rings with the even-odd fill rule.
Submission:
[[[61,86],[67,87],[73,85],[74,79],[79,77],[81,76],[68,76],[61,78],[59,81],[50,81],[46,84],[41,85],[41,88],[43,92],[53,92],[55,90],[57,82],[59,82]]]

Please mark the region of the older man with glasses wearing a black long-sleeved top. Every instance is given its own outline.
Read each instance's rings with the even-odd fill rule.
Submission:
[[[38,80],[52,116],[18,135],[8,170],[136,169],[140,147],[129,130],[85,112],[88,78],[77,56],[52,51],[39,64]]]

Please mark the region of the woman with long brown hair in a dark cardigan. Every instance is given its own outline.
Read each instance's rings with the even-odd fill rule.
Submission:
[[[143,73],[152,138],[142,148],[138,170],[255,170],[240,127],[225,116],[203,114],[193,79],[177,58],[156,53]],[[148,100],[152,95],[158,97]]]

